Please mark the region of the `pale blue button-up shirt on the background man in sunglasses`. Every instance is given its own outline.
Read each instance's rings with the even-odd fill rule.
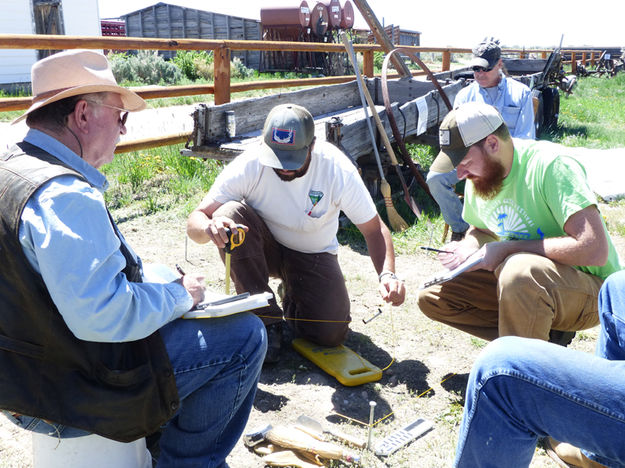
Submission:
[[[502,75],[497,85],[497,97],[493,101],[488,91],[474,81],[458,92],[454,108],[470,101],[484,102],[496,107],[511,136],[536,139],[532,92],[523,83]]]

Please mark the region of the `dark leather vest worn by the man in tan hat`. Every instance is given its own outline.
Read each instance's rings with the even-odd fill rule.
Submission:
[[[18,239],[28,199],[67,174],[84,180],[26,142],[0,156],[0,408],[130,442],[155,432],[179,406],[159,333],[125,343],[79,340]],[[137,260],[120,240],[124,273],[140,282]]]

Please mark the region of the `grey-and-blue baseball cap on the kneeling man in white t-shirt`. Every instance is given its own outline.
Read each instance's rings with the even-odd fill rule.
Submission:
[[[315,136],[315,121],[302,106],[282,104],[267,115],[259,160],[275,169],[294,171],[306,162]]]

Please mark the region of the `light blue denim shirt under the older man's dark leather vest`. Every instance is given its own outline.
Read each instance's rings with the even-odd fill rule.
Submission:
[[[28,200],[19,228],[24,254],[74,335],[138,340],[189,310],[193,300],[182,285],[133,283],[122,272],[126,260],[104,204],[104,175],[43,132],[31,129],[24,140],[89,182],[74,176],[48,181]]]

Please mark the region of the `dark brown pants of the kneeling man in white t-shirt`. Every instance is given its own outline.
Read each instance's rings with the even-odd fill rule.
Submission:
[[[228,202],[213,217],[226,216],[249,227],[245,241],[232,250],[230,277],[237,293],[275,293],[269,277],[280,278],[284,288],[284,318],[298,337],[324,346],[345,340],[351,321],[349,297],[337,256],[307,254],[279,244],[265,222],[245,203]],[[220,251],[224,258],[224,251]],[[265,325],[279,322],[283,313],[275,298],[255,310]]]

